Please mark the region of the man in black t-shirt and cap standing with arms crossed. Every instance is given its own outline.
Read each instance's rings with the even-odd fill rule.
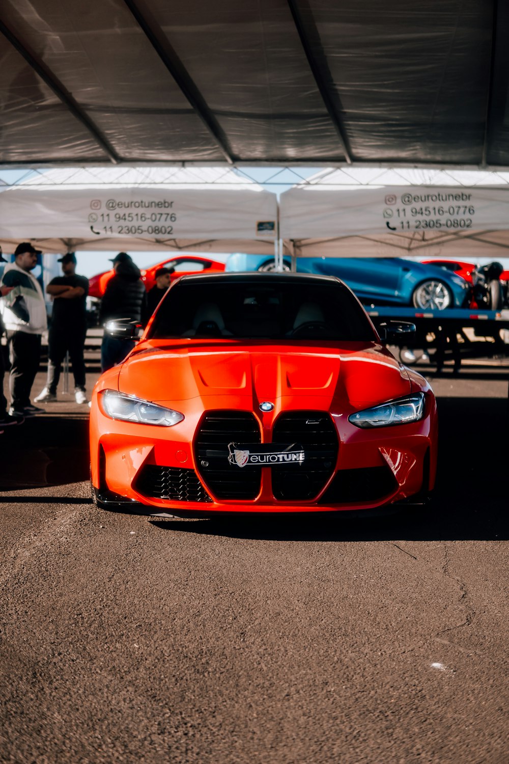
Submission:
[[[53,297],[50,334],[48,337],[48,376],[46,387],[35,399],[37,403],[56,400],[60,367],[69,351],[74,377],[76,403],[87,403],[85,393],[85,361],[83,348],[86,335],[86,296],[89,280],[76,275],[76,255],[68,252],[59,258],[63,276],[51,280],[46,291]]]

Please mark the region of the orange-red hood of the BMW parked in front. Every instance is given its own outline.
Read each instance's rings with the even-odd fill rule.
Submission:
[[[248,407],[293,399],[297,407],[327,408],[336,400],[357,409],[411,392],[404,366],[382,345],[366,342],[322,343],[319,350],[295,342],[143,342],[121,367],[118,387],[158,403],[214,397],[214,407],[242,408],[247,398]]]

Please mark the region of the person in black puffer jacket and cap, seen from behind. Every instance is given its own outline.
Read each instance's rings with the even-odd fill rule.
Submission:
[[[102,326],[112,319],[141,322],[141,316],[147,309],[147,291],[141,280],[140,269],[126,252],[119,252],[112,263],[115,274],[106,285],[99,322]],[[120,363],[134,345],[134,342],[105,334],[101,344],[101,371]]]

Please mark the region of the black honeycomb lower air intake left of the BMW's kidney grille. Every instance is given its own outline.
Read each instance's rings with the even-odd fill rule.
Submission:
[[[172,501],[211,501],[192,469],[145,465],[137,479],[136,490],[151,499]]]

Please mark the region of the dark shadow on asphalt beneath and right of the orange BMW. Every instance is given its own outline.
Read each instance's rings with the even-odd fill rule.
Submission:
[[[347,513],[152,520],[159,529],[279,541],[502,541],[509,538],[509,427],[503,398],[437,400],[437,484],[430,503],[397,514]],[[169,510],[171,512],[171,510]]]

